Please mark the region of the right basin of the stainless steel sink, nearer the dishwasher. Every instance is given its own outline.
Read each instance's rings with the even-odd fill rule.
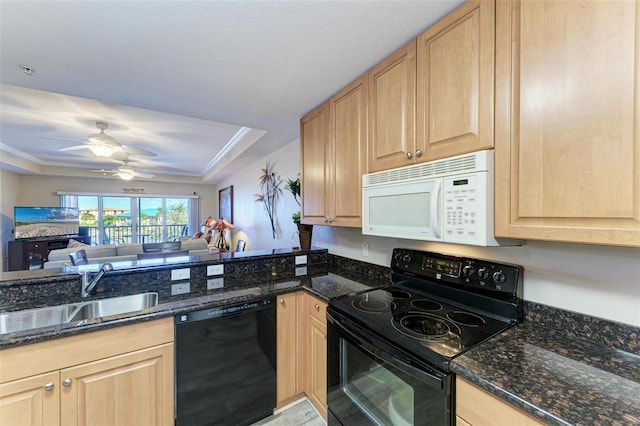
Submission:
[[[158,304],[158,293],[142,293],[131,296],[113,297],[110,299],[85,302],[69,318],[69,321],[80,321],[93,318],[121,315],[153,308]]]

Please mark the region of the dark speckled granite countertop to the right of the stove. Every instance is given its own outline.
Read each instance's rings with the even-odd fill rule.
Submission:
[[[452,370],[547,424],[640,424],[640,356],[548,325],[518,324]]]

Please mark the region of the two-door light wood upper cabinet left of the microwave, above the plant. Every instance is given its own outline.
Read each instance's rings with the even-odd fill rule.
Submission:
[[[367,84],[345,87],[300,121],[302,222],[360,227]]]

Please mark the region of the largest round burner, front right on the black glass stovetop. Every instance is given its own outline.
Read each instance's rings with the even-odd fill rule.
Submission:
[[[445,341],[460,334],[455,324],[428,313],[410,312],[399,318],[394,317],[391,324],[400,333],[417,339]]]

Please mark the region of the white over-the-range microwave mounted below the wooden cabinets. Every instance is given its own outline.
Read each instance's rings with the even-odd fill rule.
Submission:
[[[362,233],[469,244],[517,245],[493,235],[493,151],[362,177]]]

